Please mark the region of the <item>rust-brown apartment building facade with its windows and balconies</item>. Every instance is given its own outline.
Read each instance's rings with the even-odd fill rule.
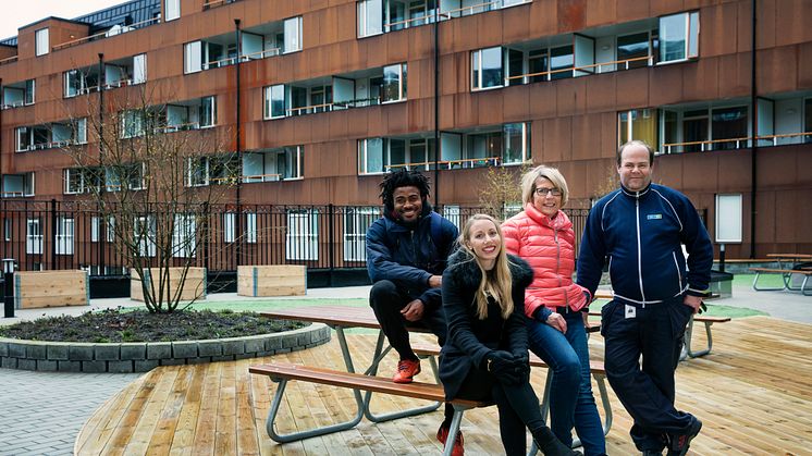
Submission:
[[[480,204],[489,167],[522,163],[559,168],[571,205],[589,208],[614,185],[617,146],[636,138],[657,150],[655,181],[691,198],[728,258],[809,252],[807,7],[135,0],[47,17],[0,41],[2,197],[73,201],[114,187],[121,176],[86,173],[64,147],[98,151],[87,107],[146,91],[149,121],[124,114],[122,138],[217,132],[232,153],[201,150],[186,185],[236,183],[238,207],[358,207],[345,237],[362,236],[377,217],[364,208],[401,167],[432,177],[447,214]]]

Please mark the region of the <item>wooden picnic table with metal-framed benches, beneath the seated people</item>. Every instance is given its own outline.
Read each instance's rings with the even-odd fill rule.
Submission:
[[[421,346],[419,344],[413,344],[413,348],[415,349],[415,353],[418,356],[429,357],[431,368],[434,372],[434,377],[438,380],[436,384],[420,383],[420,382],[397,384],[397,383],[394,383],[392,379],[390,378],[376,377],[377,371],[378,371],[378,365],[380,363],[380,361],[383,359],[383,357],[389,353],[389,350],[392,347],[390,346],[386,346],[386,348],[383,347],[384,342],[385,342],[385,336],[382,332],[380,332],[380,324],[378,323],[378,320],[374,318],[374,313],[369,307],[352,307],[352,306],[334,306],[334,305],[308,306],[308,307],[298,307],[298,308],[292,308],[292,309],[266,311],[266,312],[261,312],[261,315],[263,317],[282,319],[282,320],[318,322],[318,323],[327,324],[328,326],[334,329],[336,332],[336,336],[339,338],[339,343],[341,345],[342,355],[344,357],[344,362],[347,369],[346,372],[343,372],[343,371],[329,370],[329,369],[322,369],[322,368],[313,368],[313,367],[296,366],[296,365],[280,365],[280,363],[257,365],[257,366],[251,366],[249,368],[249,371],[251,373],[270,375],[272,380],[278,381],[280,383],[280,386],[276,389],[276,393],[274,394],[274,399],[269,410],[268,418],[266,420],[266,429],[268,431],[268,435],[275,442],[279,442],[279,443],[294,442],[294,441],[298,441],[303,439],[308,439],[312,436],[324,435],[324,434],[332,433],[332,432],[352,429],[353,427],[358,424],[358,422],[360,422],[364,416],[366,416],[372,422],[382,422],[382,421],[387,421],[391,419],[415,416],[418,414],[435,410],[436,408],[440,407],[440,405],[444,400],[443,387],[440,384],[440,381],[436,375],[435,357],[439,354],[439,347],[429,347],[429,346]],[[348,329],[348,328],[367,328],[367,329],[379,330],[378,341],[376,343],[376,349],[372,354],[372,361],[369,368],[362,374],[355,372],[355,366],[353,365],[353,359],[352,359],[353,357],[352,357],[352,354],[349,353],[345,332],[344,332],[345,329]],[[421,326],[409,326],[407,329],[411,332],[429,332],[429,330],[427,330],[426,328],[421,328]],[[545,367],[546,365],[544,365],[543,361],[541,361],[540,359],[533,356],[532,366]],[[592,374],[598,382],[598,387],[601,393],[601,398],[602,398],[602,403],[604,406],[604,410],[606,411],[604,432],[608,432],[608,429],[612,426],[612,408],[608,402],[607,390],[605,386],[605,371],[603,370],[603,363],[599,361],[593,361],[591,368],[592,368]],[[551,379],[552,379],[552,375],[548,375],[548,386],[549,386]],[[294,432],[290,434],[279,434],[274,430],[274,421],[279,412],[279,406],[281,405],[281,402],[284,395],[286,382],[290,380],[330,384],[333,386],[352,389],[354,390],[355,402],[357,405],[357,412],[352,419],[345,422],[342,422],[342,423],[329,424],[329,426],[324,426],[321,428]],[[541,404],[542,414],[544,414],[544,416],[546,416],[546,412],[549,410],[549,397],[548,397],[549,395],[546,394],[546,391],[549,390],[550,390],[549,387],[545,387],[545,394],[543,396],[544,399]],[[361,397],[361,393],[360,393],[361,391],[366,392],[364,397]],[[371,398],[372,393],[384,393],[384,394],[392,394],[392,395],[398,395],[398,396],[405,396],[405,397],[434,400],[434,404],[379,416],[379,415],[372,414],[369,409],[369,404],[370,404],[370,398]],[[482,406],[487,406],[491,404],[482,403],[482,402],[455,399],[452,402],[452,405],[454,406],[454,409],[455,409],[455,416],[452,421],[452,429],[451,429],[451,432],[453,433],[448,436],[446,442],[453,443],[456,432],[458,432],[459,430],[463,411],[469,408],[482,407]],[[446,454],[451,454],[452,448],[453,448],[453,445],[448,446],[445,449]]]

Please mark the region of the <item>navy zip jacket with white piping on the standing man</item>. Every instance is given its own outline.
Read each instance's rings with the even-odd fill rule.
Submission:
[[[688,251],[688,269],[681,244]],[[704,296],[713,247],[691,201],[668,187],[615,190],[598,201],[583,229],[578,284],[594,294],[604,258],[615,296],[656,304],[686,293]]]

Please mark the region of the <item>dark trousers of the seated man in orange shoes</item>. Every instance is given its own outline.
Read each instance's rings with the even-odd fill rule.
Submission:
[[[381,331],[386,335],[389,344],[397,352],[401,359],[417,359],[409,344],[409,332],[406,330],[406,324],[410,326],[423,325],[436,335],[440,346],[445,344],[447,329],[442,308],[433,310],[426,308],[422,319],[417,322],[407,321],[403,318],[401,309],[414,299],[398,289],[391,281],[376,282],[369,292],[369,305],[372,306],[376,318],[381,323]]]

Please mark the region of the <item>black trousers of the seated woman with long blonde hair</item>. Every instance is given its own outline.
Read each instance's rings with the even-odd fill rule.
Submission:
[[[539,398],[529,382],[516,386],[503,385],[490,372],[476,367],[468,371],[457,397],[471,400],[493,400],[499,409],[499,430],[507,456],[527,454],[527,433],[543,428]]]

